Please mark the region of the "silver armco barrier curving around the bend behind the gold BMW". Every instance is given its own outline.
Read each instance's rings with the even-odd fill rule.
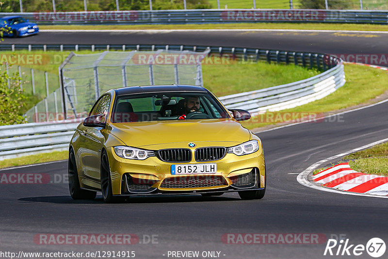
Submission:
[[[231,55],[242,61],[259,60],[282,64],[303,65],[324,70],[323,73],[289,84],[257,91],[220,97],[226,108],[240,108],[251,113],[277,111],[320,99],[345,83],[343,62],[337,57],[319,53],[232,47],[178,46],[178,45],[0,45],[3,49],[178,49],[204,51],[217,55]],[[78,119],[79,121],[81,119]],[[0,126],[0,160],[51,150],[66,150],[79,122],[28,123]]]

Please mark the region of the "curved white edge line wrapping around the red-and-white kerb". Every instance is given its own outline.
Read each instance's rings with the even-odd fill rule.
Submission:
[[[379,141],[372,142],[372,143],[370,143],[368,145],[360,146],[360,147],[357,147],[355,149],[346,151],[344,153],[341,153],[341,154],[338,154],[338,155],[335,155],[335,156],[323,159],[323,160],[321,160],[319,162],[316,162],[316,163],[310,165],[309,167],[307,167],[307,169],[304,170],[303,172],[301,172],[296,179],[297,179],[297,181],[300,184],[302,184],[302,185],[304,185],[306,187],[312,188],[312,189],[319,190],[319,191],[324,191],[324,192],[329,192],[329,193],[336,193],[336,194],[348,194],[348,195],[356,195],[356,196],[388,198],[388,196],[372,195],[372,194],[358,194],[358,193],[351,193],[351,192],[346,192],[346,191],[339,191],[339,190],[335,190],[335,189],[332,189],[332,188],[326,188],[326,187],[323,187],[321,185],[314,184],[314,183],[310,182],[307,179],[307,176],[312,172],[312,170],[314,170],[315,168],[317,168],[318,166],[320,166],[324,162],[328,162],[328,161],[334,160],[336,158],[348,155],[350,153],[354,153],[356,151],[359,151],[359,150],[362,150],[362,149],[365,149],[365,148],[368,148],[368,147],[371,147],[371,146],[374,146],[374,145],[377,145],[377,144],[381,144],[381,143],[384,143],[384,142],[387,142],[387,141],[388,141],[388,138],[382,139],[382,140],[379,140]]]

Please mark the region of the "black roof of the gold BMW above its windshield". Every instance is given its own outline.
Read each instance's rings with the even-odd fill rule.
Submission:
[[[143,85],[143,86],[128,86],[114,89],[116,95],[130,95],[155,92],[208,92],[202,86],[188,84],[166,84],[166,85]]]

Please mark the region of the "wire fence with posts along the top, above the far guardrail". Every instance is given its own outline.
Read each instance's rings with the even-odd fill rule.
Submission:
[[[176,9],[336,9],[388,10],[387,0],[5,0],[1,12],[129,11]]]

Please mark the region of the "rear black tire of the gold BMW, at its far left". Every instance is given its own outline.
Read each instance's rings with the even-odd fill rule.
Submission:
[[[72,148],[69,150],[67,173],[69,177],[69,192],[73,200],[93,200],[96,198],[97,192],[83,190],[80,187],[76,158]]]

